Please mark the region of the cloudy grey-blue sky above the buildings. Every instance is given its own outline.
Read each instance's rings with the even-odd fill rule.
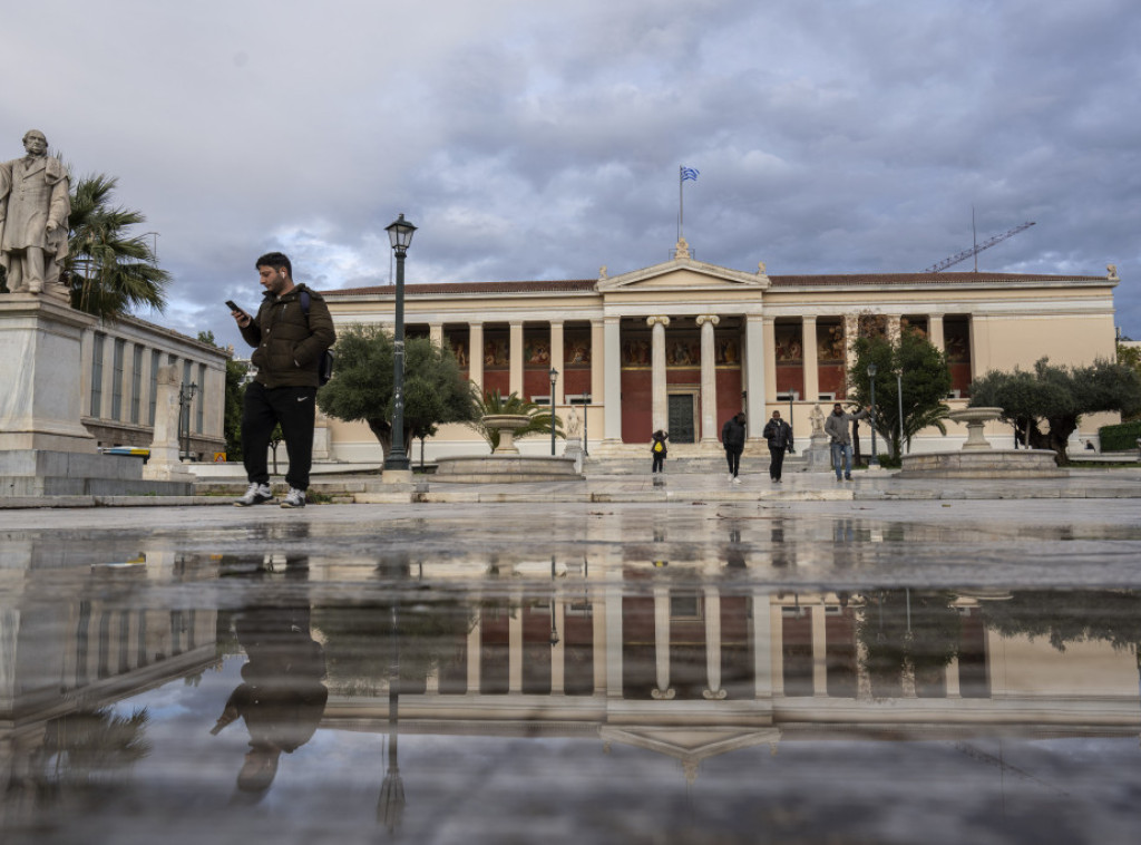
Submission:
[[[258,255],[318,289],[670,256],[1103,275],[1141,338],[1135,0],[44,0],[0,14],[0,159],[119,177],[164,314],[238,343]],[[971,269],[968,260],[953,269]]]

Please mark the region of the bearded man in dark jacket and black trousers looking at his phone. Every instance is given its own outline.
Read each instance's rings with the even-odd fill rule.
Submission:
[[[289,454],[289,492],[281,506],[305,507],[313,465],[318,368],[322,354],[337,340],[337,332],[322,296],[293,283],[293,266],[285,255],[268,252],[256,266],[265,288],[257,315],[241,308],[230,311],[242,337],[257,347],[250,356],[257,375],[245,387],[242,407],[242,453],[250,488],[234,504],[249,507],[273,500],[266,453],[274,427],[281,424]]]

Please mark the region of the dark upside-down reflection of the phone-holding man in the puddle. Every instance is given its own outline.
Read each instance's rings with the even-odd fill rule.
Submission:
[[[329,698],[321,683],[325,654],[309,631],[308,605],[252,607],[238,617],[236,629],[248,657],[243,683],[230,693],[211,733],[244,719],[250,750],[237,788],[260,797],[274,781],[282,751],[292,754],[317,730]]]

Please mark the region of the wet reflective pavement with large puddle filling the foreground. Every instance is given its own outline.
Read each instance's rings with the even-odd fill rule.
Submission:
[[[1136,840],[1136,498],[682,498],[0,510],[0,839]]]

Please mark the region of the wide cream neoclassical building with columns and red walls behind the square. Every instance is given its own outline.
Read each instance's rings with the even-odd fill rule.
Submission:
[[[720,449],[725,419],[745,411],[755,445],[770,407],[792,417],[798,434],[809,415],[848,393],[847,369],[861,320],[890,336],[922,331],[945,351],[952,404],[968,400],[971,379],[992,369],[1028,368],[1049,355],[1092,363],[1115,354],[1114,266],[1104,276],[1013,273],[861,273],[770,275],[693,258],[679,240],[673,257],[597,279],[405,285],[410,337],[450,345],[484,391],[516,392],[567,415],[585,412],[591,453],[641,449],[657,428],[675,448]],[[391,325],[395,287],[325,293],[333,320]],[[1085,420],[1081,436],[1107,420]],[[947,448],[938,432],[915,450]],[[435,456],[471,452],[467,428],[446,428]],[[687,445],[693,444],[693,445]],[[524,442],[524,449],[528,442]],[[536,451],[542,444],[534,442]],[[364,425],[331,422],[331,454],[375,460]]]

